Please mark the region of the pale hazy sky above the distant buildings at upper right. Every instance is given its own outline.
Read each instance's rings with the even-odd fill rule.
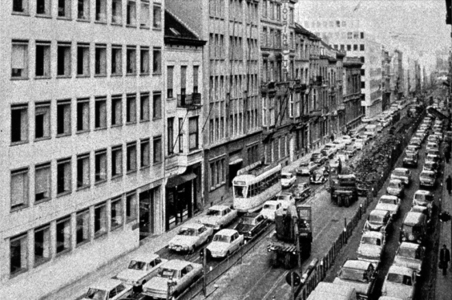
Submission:
[[[412,55],[422,55],[427,68],[434,64],[436,51],[451,46],[444,0],[299,0],[295,8],[300,23],[312,18],[359,19],[379,40],[392,44],[392,36]]]

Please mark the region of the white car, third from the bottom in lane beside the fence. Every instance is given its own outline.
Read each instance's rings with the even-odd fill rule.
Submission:
[[[366,231],[361,236],[360,246],[358,247],[357,259],[371,262],[377,269],[384,254],[386,237],[382,232]]]

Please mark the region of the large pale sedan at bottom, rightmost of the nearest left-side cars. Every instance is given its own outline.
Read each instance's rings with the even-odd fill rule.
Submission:
[[[181,292],[203,275],[203,266],[186,260],[169,260],[162,264],[158,274],[143,285],[142,294],[153,299],[177,298]],[[168,282],[173,282],[168,291]]]

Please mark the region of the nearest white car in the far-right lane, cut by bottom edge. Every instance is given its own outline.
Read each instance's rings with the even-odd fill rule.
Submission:
[[[416,273],[413,269],[392,264],[384,280],[381,295],[412,300],[416,290]]]

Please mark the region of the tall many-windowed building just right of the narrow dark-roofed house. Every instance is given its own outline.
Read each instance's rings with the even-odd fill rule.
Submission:
[[[238,169],[262,157],[259,45],[262,1],[168,0],[166,8],[206,40],[201,108],[203,205],[222,202]],[[208,99],[208,100],[207,100]]]

